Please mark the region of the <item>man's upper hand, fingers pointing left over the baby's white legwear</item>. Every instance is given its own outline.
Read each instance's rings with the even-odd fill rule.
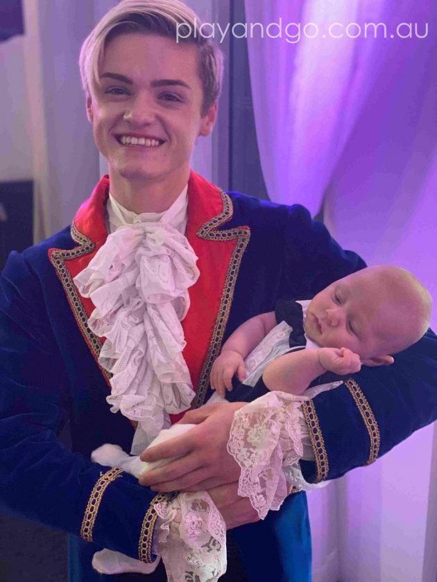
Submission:
[[[157,461],[185,455],[168,465],[152,469],[139,477],[152,491],[203,491],[238,481],[240,468],[228,453],[227,444],[234,412],[244,402],[216,403],[190,410],[180,423],[194,423],[191,428],[165,443],[148,448],[142,461]]]

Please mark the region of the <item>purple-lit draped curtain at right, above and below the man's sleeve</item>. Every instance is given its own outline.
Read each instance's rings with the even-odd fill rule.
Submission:
[[[282,38],[262,38],[255,28],[248,37],[271,200],[304,204],[313,215],[323,207],[343,247],[370,265],[411,270],[436,299],[435,1],[245,0],[245,6],[248,23],[266,27],[282,19]],[[286,24],[303,29],[309,22],[318,25],[317,37],[301,30],[298,42],[286,42]],[[376,39],[323,37],[332,23],[370,22],[386,24],[388,37],[382,28]],[[402,39],[401,23],[413,23],[413,35],[414,23],[419,35],[428,23],[429,33]],[[278,35],[278,27],[270,30]],[[309,26],[308,36],[315,30]],[[357,30],[352,26],[351,35]],[[408,30],[401,26],[400,34]],[[309,494],[314,582],[436,582],[434,432],[426,427],[374,465]]]

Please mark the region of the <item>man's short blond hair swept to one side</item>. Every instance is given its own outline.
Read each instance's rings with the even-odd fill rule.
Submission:
[[[96,24],[80,49],[79,68],[85,94],[92,96],[105,47],[114,37],[144,33],[172,38],[176,42],[179,32],[178,42],[198,47],[198,76],[203,87],[202,115],[205,115],[220,95],[223,54],[203,37],[199,30],[201,24],[196,12],[180,0],[122,0]]]

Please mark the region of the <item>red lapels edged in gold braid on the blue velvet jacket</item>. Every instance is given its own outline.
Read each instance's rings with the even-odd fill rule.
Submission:
[[[69,303],[78,326],[98,360],[103,342],[98,340],[84,324],[94,309],[92,301],[81,297],[72,279],[85,269],[96,252],[105,243],[108,233],[105,227],[105,204],[108,199],[109,176],[105,175],[97,184],[89,200],[85,201],[71,227],[71,236],[80,247],[71,251],[50,249],[49,256],[67,292]],[[191,306],[182,321],[187,346],[184,357],[191,380],[196,389],[202,378],[202,403],[212,359],[220,349],[221,339],[228,319],[228,303],[232,301],[241,250],[250,236],[247,227],[228,231],[216,230],[232,218],[230,198],[200,175],[191,171],[188,184],[187,238],[198,256],[200,276],[189,289]],[[235,258],[236,247],[239,257]],[[235,263],[238,263],[236,265]],[[230,277],[230,264],[233,275]],[[62,269],[62,267],[64,267]],[[67,272],[66,272],[67,271]],[[224,297],[226,295],[226,297]],[[211,360],[211,361],[209,361]],[[108,374],[105,374],[109,381]],[[200,396],[200,394],[198,394]]]

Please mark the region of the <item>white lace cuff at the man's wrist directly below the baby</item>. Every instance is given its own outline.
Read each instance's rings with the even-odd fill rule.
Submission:
[[[235,412],[228,452],[241,468],[238,494],[249,498],[259,518],[280,509],[293,486],[305,491],[325,486],[307,483],[298,465],[305,434],[301,407],[305,400],[340,384],[330,382],[310,388],[305,396],[269,392]]]

